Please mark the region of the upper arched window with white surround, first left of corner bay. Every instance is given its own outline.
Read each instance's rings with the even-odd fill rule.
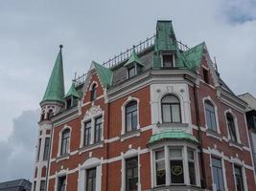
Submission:
[[[140,128],[139,124],[139,99],[136,97],[128,96],[128,99],[121,107],[122,111],[122,131],[124,135],[130,131]]]

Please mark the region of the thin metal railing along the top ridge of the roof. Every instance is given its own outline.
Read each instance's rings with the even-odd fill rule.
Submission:
[[[103,63],[103,65],[105,66],[105,68],[109,69],[119,65],[122,62],[127,61],[133,49],[135,50],[135,53],[142,53],[153,46],[154,39],[155,39],[155,34],[150,38],[147,38],[145,41],[139,42],[138,45],[133,46],[132,48],[125,51],[124,53],[121,52],[119,55],[115,55],[114,57],[109,58],[107,61]],[[177,45],[181,52],[185,52],[189,50],[189,47],[183,44],[181,41],[177,41]],[[81,74],[81,76],[78,76],[78,77],[75,76],[73,80],[75,82],[75,86],[81,85],[85,81],[86,76],[87,74]]]

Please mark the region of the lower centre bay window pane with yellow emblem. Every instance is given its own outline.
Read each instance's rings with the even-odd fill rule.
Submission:
[[[184,183],[182,160],[171,160],[170,168],[171,168],[171,182]]]

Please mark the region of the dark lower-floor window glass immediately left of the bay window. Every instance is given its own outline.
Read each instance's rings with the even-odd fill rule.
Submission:
[[[138,190],[138,158],[126,159],[126,190]]]

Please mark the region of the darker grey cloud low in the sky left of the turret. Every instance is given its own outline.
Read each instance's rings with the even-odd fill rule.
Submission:
[[[0,181],[32,180],[38,111],[24,111],[13,119],[12,134],[0,141]]]

